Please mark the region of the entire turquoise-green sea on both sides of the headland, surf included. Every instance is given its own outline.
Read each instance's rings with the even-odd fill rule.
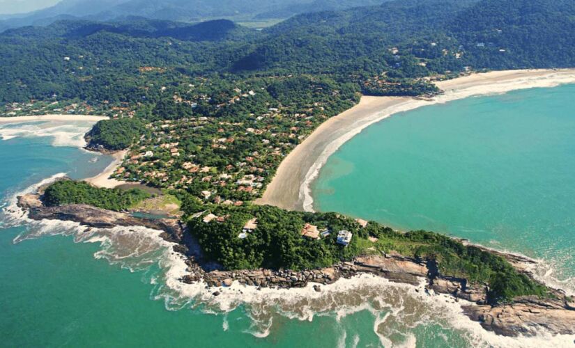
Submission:
[[[316,208],[540,257],[560,270],[546,275],[568,285],[574,244],[564,234],[575,186],[572,172],[563,171],[575,166],[568,158],[575,148],[569,139],[575,139],[575,117],[569,114],[575,104],[568,97],[574,91],[564,86],[470,98],[373,125],[329,160],[314,187]],[[548,107],[535,109],[538,99]],[[523,103],[528,105],[517,110]],[[465,111],[459,115],[463,120],[456,111]],[[15,209],[18,193],[61,175],[90,177],[112,161],[79,148],[89,127],[87,122],[0,125],[1,347],[570,347],[573,342],[500,338],[461,315],[460,303],[447,296],[372,276],[342,280],[320,293],[311,287],[257,291],[235,284],[216,297],[202,285],[178,282],[185,264],[158,231],[29,221]],[[512,129],[521,134],[508,139]],[[447,144],[453,141],[457,146]],[[517,153],[526,158],[516,159]],[[481,155],[489,168],[482,168]],[[535,155],[544,161],[540,171],[527,166]],[[444,157],[451,168],[442,168]],[[464,165],[453,167],[456,159]],[[529,180],[517,182],[522,176],[515,172],[528,170]],[[423,194],[427,180],[436,180],[431,185],[436,191]],[[473,194],[462,193],[465,187]],[[529,190],[521,193],[521,187]],[[455,193],[457,198],[450,198]],[[473,202],[482,199],[487,203]],[[384,205],[395,201],[407,208]],[[543,206],[549,209],[539,209]],[[489,207],[505,214],[488,214]],[[522,212],[513,210],[519,207]],[[521,216],[536,223],[521,222]],[[541,232],[537,226],[548,227]]]

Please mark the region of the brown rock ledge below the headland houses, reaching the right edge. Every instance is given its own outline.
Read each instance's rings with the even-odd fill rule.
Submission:
[[[510,255],[509,258],[515,262],[522,260],[516,255]],[[192,260],[188,264],[190,275],[185,276],[183,282],[204,281],[209,287],[228,287],[233,281],[273,288],[305,287],[308,283],[316,283],[314,290],[321,291],[321,285],[358,274],[374,274],[396,283],[411,285],[418,285],[422,279],[427,279],[426,289],[429,292],[450,294],[456,301],[463,299],[473,302],[473,305],[463,306],[463,312],[470,319],[480,322],[484,329],[498,335],[536,335],[541,329],[553,334],[575,333],[575,303],[559,290],[554,290],[553,297],[549,299],[526,296],[516,299],[513,304],[491,306],[486,304],[488,287],[485,285],[470,284],[463,278],[442,276],[434,262],[420,262],[401,255],[363,256],[355,258],[353,262],[341,262],[325,269],[309,271],[256,269],[207,272]]]

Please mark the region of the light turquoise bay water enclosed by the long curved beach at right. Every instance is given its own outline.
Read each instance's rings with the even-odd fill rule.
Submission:
[[[314,207],[542,258],[573,288],[574,95],[518,90],[378,122],[328,159]]]

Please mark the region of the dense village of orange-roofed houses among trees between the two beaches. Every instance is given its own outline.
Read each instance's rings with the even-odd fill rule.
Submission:
[[[236,204],[237,198],[245,199],[241,195],[234,195],[236,200],[225,194],[222,197],[218,191],[248,193],[256,198],[264,189],[266,177],[273,173],[270,168],[278,166],[283,157],[295,148],[296,143],[289,139],[305,134],[302,133],[305,127],[286,127],[272,120],[264,122],[266,115],[277,116],[279,112],[280,109],[270,108],[270,113],[259,116],[259,121],[252,127],[246,127],[248,121],[229,122],[208,117],[153,122],[146,125],[148,134],[141,136],[137,145],[132,147],[130,157],[124,168],[116,172],[116,177],[170,189],[206,182],[210,187],[204,189],[199,198],[210,203]],[[305,114],[298,113],[297,116],[302,118]],[[279,129],[289,131],[281,132]],[[243,150],[236,148],[245,148],[247,143],[253,143],[254,137],[259,139],[260,145],[247,155],[238,157]],[[194,146],[190,146],[190,139],[194,139]],[[188,152],[189,149],[194,149],[194,152]],[[198,154],[204,151],[205,155]],[[211,152],[217,152],[220,158],[229,159],[230,163],[220,168],[204,161],[214,157]]]

